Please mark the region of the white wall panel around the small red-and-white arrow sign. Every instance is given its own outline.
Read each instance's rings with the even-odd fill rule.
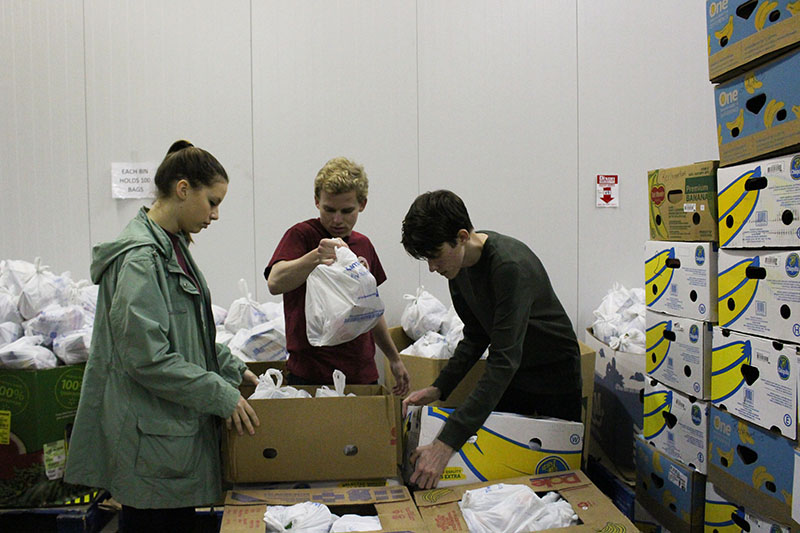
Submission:
[[[647,171],[718,158],[704,5],[578,2],[579,329],[615,281],[644,287]],[[618,209],[595,207],[605,173]]]

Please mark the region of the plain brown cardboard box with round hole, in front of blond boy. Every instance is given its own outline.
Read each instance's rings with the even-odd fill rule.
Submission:
[[[263,372],[264,366],[250,368]],[[312,396],[317,389],[297,388]],[[247,398],[255,387],[243,384],[240,390]],[[380,385],[348,385],[345,393],[351,392],[356,397],[251,400],[261,426],[253,436],[225,432],[226,479],[254,483],[397,475],[394,397]]]

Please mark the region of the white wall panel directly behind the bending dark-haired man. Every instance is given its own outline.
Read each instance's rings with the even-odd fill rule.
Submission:
[[[575,6],[419,2],[420,190],[514,236],[577,315]],[[446,280],[422,283],[450,301]]]

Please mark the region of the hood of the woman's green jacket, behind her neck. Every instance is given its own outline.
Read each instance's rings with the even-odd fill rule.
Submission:
[[[92,266],[89,273],[92,283],[99,284],[103,273],[122,254],[142,246],[152,246],[166,258],[173,255],[172,242],[166,231],[147,216],[149,209],[142,207],[116,240],[103,242],[92,248]]]

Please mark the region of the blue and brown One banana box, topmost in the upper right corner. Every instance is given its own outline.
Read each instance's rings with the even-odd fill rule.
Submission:
[[[800,42],[797,0],[706,0],[708,78],[714,83]]]

